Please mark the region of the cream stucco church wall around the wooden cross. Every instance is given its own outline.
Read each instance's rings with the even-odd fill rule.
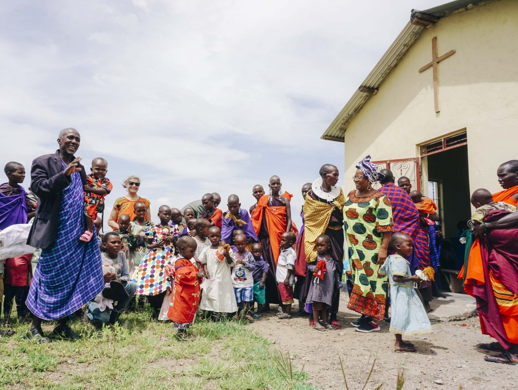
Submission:
[[[417,157],[416,145],[466,128],[470,192],[498,191],[498,165],[518,158],[517,21],[518,1],[502,0],[430,27],[349,124],[344,189],[353,188],[354,165],[366,154],[373,160]],[[418,73],[431,61],[434,36],[439,55],[456,50],[439,64],[437,114],[432,70]],[[451,174],[461,172],[452,167]]]

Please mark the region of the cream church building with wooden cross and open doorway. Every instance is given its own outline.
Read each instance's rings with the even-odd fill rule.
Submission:
[[[344,142],[344,191],[370,154],[434,198],[445,238],[471,215],[470,194],[500,191],[518,158],[518,1],[458,0],[410,22],[322,138]]]

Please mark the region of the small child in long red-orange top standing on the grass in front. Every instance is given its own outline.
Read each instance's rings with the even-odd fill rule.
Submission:
[[[172,278],[172,299],[167,312],[169,320],[178,329],[178,337],[185,338],[187,329],[193,324],[199,303],[199,284],[202,275],[193,264],[196,241],[192,237],[180,237],[177,242],[180,255],[168,276]]]

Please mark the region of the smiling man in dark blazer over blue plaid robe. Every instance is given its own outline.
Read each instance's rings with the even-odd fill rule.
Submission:
[[[86,183],[81,158],[74,156],[80,142],[76,129],[63,129],[57,138],[59,149],[35,158],[31,168],[31,190],[39,203],[27,243],[42,252],[26,301],[33,313],[26,337],[39,343],[49,341],[41,329],[42,320],[58,321],[53,336],[79,338],[68,326],[68,316],[104,286],[96,240],[79,241]]]

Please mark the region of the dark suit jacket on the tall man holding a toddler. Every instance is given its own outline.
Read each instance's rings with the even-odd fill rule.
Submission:
[[[82,169],[80,174],[85,184],[87,176],[84,167],[81,164],[78,167]],[[27,244],[31,247],[47,249],[54,243],[61,208],[61,192],[70,184],[70,178],[63,171],[59,150],[54,154],[39,156],[32,163],[31,191],[38,196],[39,202],[27,238]]]

